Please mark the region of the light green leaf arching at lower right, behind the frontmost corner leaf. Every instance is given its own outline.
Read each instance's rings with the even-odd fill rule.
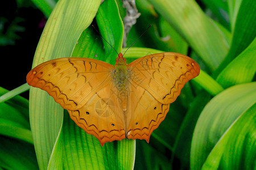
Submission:
[[[230,126],[255,104],[256,83],[230,87],[205,106],[197,121],[191,146],[191,169],[200,169]],[[238,135],[238,133],[237,133]]]

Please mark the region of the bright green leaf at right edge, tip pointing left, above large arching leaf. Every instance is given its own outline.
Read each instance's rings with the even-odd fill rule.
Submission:
[[[217,77],[223,87],[250,82],[256,71],[256,38]]]

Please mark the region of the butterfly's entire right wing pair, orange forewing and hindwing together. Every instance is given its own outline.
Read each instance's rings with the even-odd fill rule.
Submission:
[[[149,140],[188,80],[199,75],[193,59],[179,53],[151,54],[128,65],[127,138]]]

